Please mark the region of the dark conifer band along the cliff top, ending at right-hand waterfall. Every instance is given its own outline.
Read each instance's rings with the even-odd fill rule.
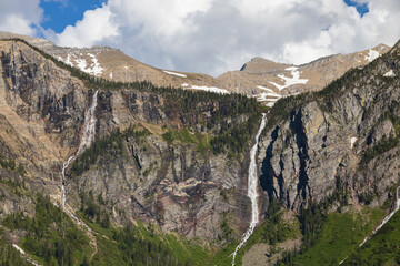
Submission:
[[[216,133],[221,134],[223,132],[223,135],[217,136],[210,142],[212,151],[216,154],[226,152],[229,153],[230,156],[241,154],[250,142],[251,136],[256,133],[261,112],[267,110],[258,103],[256,99],[248,98],[244,94],[219,94],[207,91],[173,89],[170,86],[154,86],[148,81],[129,83],[109,81],[68,65],[22,39],[13,38],[3,40],[24,43],[46,59],[51,60],[57,66],[69,71],[72,76],[82,80],[87,88],[94,90],[123,89],[147,92],[150,93],[149,101],[156,105],[158,103],[158,96],[162,96],[164,99],[162,109],[167,116],[178,117],[187,126],[202,124],[211,131],[216,126],[219,126],[220,130]],[[210,117],[206,117],[204,113],[207,112],[211,114]],[[249,119],[246,122],[237,122],[236,119],[240,115]],[[76,165],[78,168],[74,174],[79,175],[88,165],[90,165],[90,163],[84,163],[83,166]]]

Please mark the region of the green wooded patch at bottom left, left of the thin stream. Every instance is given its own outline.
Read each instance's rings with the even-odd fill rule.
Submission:
[[[11,231],[24,231],[21,247],[46,265],[79,265],[90,255],[88,237],[49,196],[38,194],[33,218],[16,213],[2,224]]]

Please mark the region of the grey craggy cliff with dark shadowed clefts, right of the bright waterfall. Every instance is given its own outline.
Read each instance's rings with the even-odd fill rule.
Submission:
[[[320,93],[284,103],[293,106],[287,119],[270,124],[260,141],[264,207],[272,197],[299,211],[338,193],[353,205],[382,205],[393,196],[400,164],[399,51],[397,45]],[[271,110],[277,113],[279,106]]]

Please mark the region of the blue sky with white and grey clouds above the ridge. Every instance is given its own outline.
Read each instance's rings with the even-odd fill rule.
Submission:
[[[301,64],[400,39],[399,0],[0,0],[0,30],[110,45],[217,76],[254,57]]]

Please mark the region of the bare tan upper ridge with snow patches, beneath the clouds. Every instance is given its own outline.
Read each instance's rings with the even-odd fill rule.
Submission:
[[[0,38],[14,34],[0,32]],[[281,96],[307,91],[319,91],[338,79],[351,68],[368,64],[386,53],[389,47],[379,44],[373,49],[350,54],[334,54],[313,62],[298,65],[276,63],[254,58],[243,64],[241,71],[229,71],[218,78],[201,73],[186,73],[161,70],[143,64],[121,51],[108,47],[91,49],[61,48],[43,39],[26,39],[32,45],[52,54],[57,59],[79,68],[83,72],[112,81],[150,81],[159,86],[173,86],[191,90],[208,90],[221,93],[237,92],[254,96],[268,106]]]

